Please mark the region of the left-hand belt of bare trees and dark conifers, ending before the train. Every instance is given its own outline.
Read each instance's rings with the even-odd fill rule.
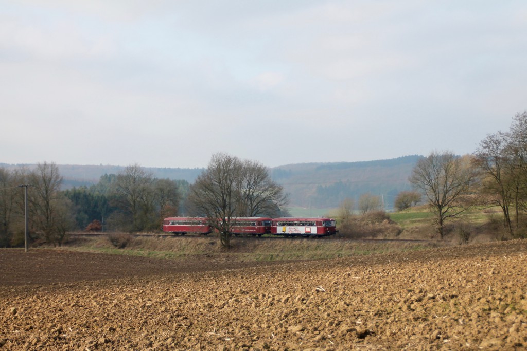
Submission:
[[[72,230],[155,230],[165,215],[177,212],[186,181],[158,179],[134,164],[120,174],[101,176],[90,187],[61,190],[54,163],[33,170],[0,168],[0,247],[24,240],[24,193],[27,187],[28,234],[33,242],[62,245]]]

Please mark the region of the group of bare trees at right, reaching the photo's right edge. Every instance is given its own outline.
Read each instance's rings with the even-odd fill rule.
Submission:
[[[444,236],[445,220],[474,205],[499,207],[504,235],[525,235],[527,215],[527,111],[513,117],[508,132],[488,134],[471,155],[432,152],[419,159],[409,178],[435,214]]]

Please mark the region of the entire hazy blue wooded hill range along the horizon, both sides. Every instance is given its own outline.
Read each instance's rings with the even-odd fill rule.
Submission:
[[[364,162],[302,163],[271,168],[271,177],[284,186],[290,205],[310,208],[337,207],[346,197],[358,200],[361,194],[381,196],[386,209],[393,207],[395,196],[410,189],[408,177],[419,155]],[[0,167],[29,169],[36,165]],[[64,177],[63,188],[90,186],[104,174],[118,174],[124,166],[57,165]],[[145,167],[154,177],[184,179],[193,183],[203,168]]]

